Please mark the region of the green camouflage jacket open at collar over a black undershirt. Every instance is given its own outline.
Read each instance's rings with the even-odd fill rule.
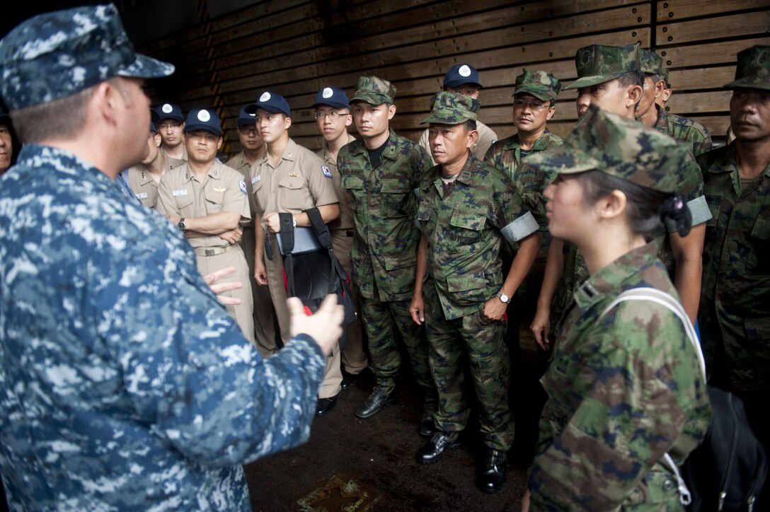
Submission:
[[[357,139],[340,149],[337,168],[355,224],[353,282],[368,299],[377,293],[383,301],[411,300],[420,239],[415,192],[430,171],[425,150],[391,129],[379,166]]]

